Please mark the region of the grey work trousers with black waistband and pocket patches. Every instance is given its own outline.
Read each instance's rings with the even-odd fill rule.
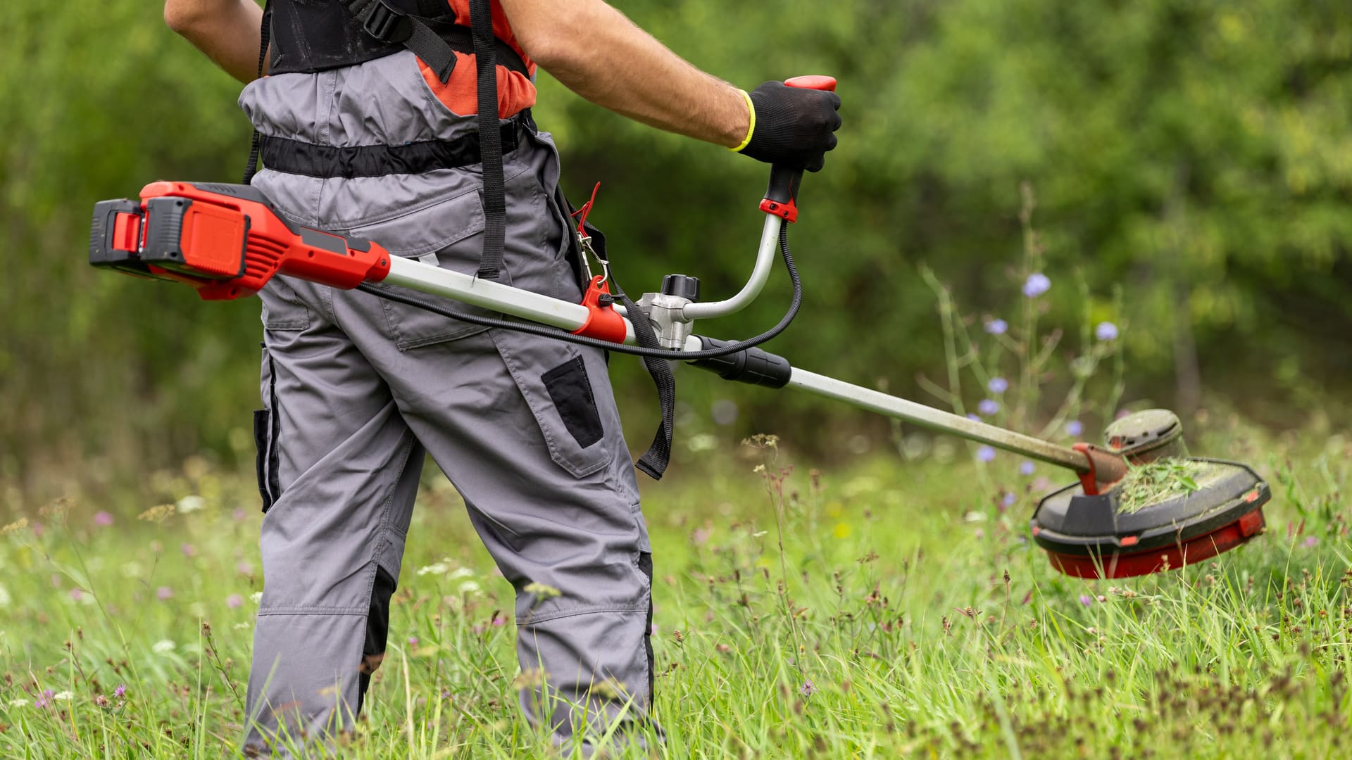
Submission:
[[[241,105],[264,135],[324,146],[473,130],[473,118],[433,97],[410,53],[265,77]],[[580,300],[549,135],[525,135],[504,170],[500,281]],[[477,268],[477,165],[354,179],[264,169],[254,185],[296,223]],[[260,296],[265,580],[246,744],[301,744],[352,726],[385,650],[425,452],[515,587],[521,667],[544,669],[561,699],[523,690],[527,718],[560,742],[577,736],[584,714],[589,728],[622,711],[641,719],[652,691],[652,561],[603,353],[288,277]],[[537,598],[531,583],[560,595]]]

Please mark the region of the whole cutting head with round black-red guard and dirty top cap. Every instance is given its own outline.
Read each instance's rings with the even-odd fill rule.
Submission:
[[[1033,540],[1056,569],[1078,577],[1178,569],[1263,531],[1267,483],[1238,462],[1188,457],[1174,412],[1129,415],[1109,426],[1106,438],[1130,464],[1126,477],[1098,495],[1068,485],[1045,496],[1033,514]],[[1165,460],[1186,487],[1152,494],[1133,481]]]

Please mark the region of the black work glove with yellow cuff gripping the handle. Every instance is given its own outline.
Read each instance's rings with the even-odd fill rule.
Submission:
[[[768,81],[750,92],[750,142],[738,153],[790,169],[819,172],[841,128],[841,99],[834,92],[798,89]]]

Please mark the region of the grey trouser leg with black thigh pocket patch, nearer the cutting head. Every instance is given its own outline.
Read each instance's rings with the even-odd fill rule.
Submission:
[[[558,741],[642,721],[652,550],[602,352],[489,330],[366,353],[516,590],[521,665],[548,684],[527,718]]]

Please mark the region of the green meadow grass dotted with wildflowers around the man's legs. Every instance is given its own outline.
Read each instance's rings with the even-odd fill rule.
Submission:
[[[1275,452],[1255,462],[1274,481],[1268,534],[1182,571],[1083,581],[1028,540],[1036,496],[1068,475],[1003,456],[818,472],[764,440],[721,444],[646,492],[657,755],[1337,756],[1352,444],[1307,446],[1197,445]],[[200,458],[149,488],[174,506],[64,502],[0,537],[0,756],[238,752],[257,492]],[[419,499],[389,656],[333,752],[552,755],[515,709],[510,588],[445,481]]]

